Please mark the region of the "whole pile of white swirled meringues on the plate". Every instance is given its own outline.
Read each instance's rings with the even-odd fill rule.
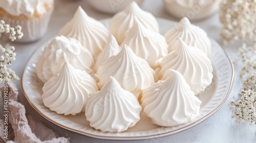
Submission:
[[[45,106],[64,115],[85,112],[97,130],[125,131],[140,112],[170,127],[198,116],[195,95],[213,77],[210,51],[207,34],[186,17],[162,36],[156,18],[132,2],[109,31],[79,6],[42,51],[36,74]]]

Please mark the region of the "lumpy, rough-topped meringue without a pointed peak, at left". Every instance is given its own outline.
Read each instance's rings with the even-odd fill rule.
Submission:
[[[75,68],[90,73],[94,60],[90,51],[76,39],[57,36],[45,47],[38,58],[35,68],[37,77],[46,83],[59,74],[65,62],[70,62]]]

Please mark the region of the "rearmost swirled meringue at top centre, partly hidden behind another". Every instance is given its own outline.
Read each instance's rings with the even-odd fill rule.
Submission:
[[[115,14],[110,22],[110,32],[116,37],[119,44],[124,40],[125,32],[134,25],[135,17],[146,29],[159,32],[156,18],[150,12],[140,9],[136,2],[131,2],[123,11]]]

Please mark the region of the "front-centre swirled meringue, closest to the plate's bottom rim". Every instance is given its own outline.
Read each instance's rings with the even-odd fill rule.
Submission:
[[[122,132],[140,120],[141,106],[133,93],[113,78],[98,92],[90,94],[86,117],[90,126],[103,132]]]

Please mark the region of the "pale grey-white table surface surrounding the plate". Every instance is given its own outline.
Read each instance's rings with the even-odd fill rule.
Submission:
[[[69,21],[73,14],[75,13],[78,6],[81,6],[88,15],[96,18],[103,19],[109,18],[113,15],[104,14],[94,10],[87,3],[86,0],[79,1],[64,1],[64,0],[55,0],[55,10],[50,20],[48,33],[41,38],[40,40],[27,43],[27,44],[19,44],[19,43],[11,43],[16,48],[16,61],[14,61],[11,67],[16,71],[16,74],[19,77],[22,77],[22,72],[25,67],[26,61],[33,53],[33,51],[40,45],[40,43],[47,40],[52,35],[56,34],[60,28],[65,25],[67,21]],[[143,10],[151,12],[156,17],[162,17],[166,19],[176,20],[172,16],[168,15],[164,9],[162,1],[158,0],[145,0],[142,4],[141,8]],[[202,21],[193,22],[194,24],[202,27],[210,37],[216,39],[220,42],[220,31],[221,31],[221,23],[219,21],[219,15],[215,14],[207,19]],[[232,44],[229,46],[223,46],[227,54],[231,57],[234,57],[234,54],[237,52],[238,47],[241,43]],[[244,124],[235,124],[234,118],[231,117],[231,109],[228,107],[227,103],[231,99],[238,99],[238,92],[242,88],[240,80],[238,78],[238,71],[241,67],[234,65],[236,75],[234,80],[234,86],[232,92],[227,99],[227,102],[223,105],[223,107],[217,111],[214,115],[207,118],[207,120],[203,121],[199,125],[192,127],[183,132],[161,137],[155,139],[147,139],[147,140],[137,140],[132,142],[256,142],[256,128],[255,126],[250,126],[246,123]],[[32,106],[28,103],[25,96],[22,93],[22,89],[20,86],[20,81],[15,82],[17,84],[19,90],[19,101],[25,105],[27,114],[30,114],[34,117],[39,118],[41,122],[46,124],[48,127],[54,129],[59,133],[60,136],[70,138],[71,142],[131,142],[131,141],[112,141],[112,140],[101,140],[88,136],[83,136],[65,129],[62,129],[49,121],[45,120],[40,114],[38,114]]]

